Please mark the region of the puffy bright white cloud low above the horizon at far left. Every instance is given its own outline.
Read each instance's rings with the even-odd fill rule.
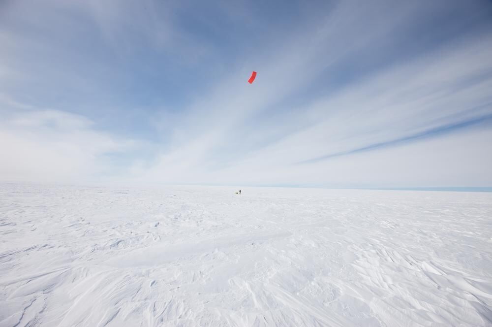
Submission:
[[[0,123],[0,179],[80,183],[112,167],[104,155],[131,151],[130,140],[92,129],[87,118],[59,110],[29,110]]]

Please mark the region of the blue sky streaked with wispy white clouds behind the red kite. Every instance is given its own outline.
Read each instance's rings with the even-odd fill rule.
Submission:
[[[3,182],[492,187],[492,1],[0,0],[0,117]]]

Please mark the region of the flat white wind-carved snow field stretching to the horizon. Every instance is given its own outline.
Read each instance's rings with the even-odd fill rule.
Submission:
[[[492,326],[492,194],[0,185],[0,326]]]

